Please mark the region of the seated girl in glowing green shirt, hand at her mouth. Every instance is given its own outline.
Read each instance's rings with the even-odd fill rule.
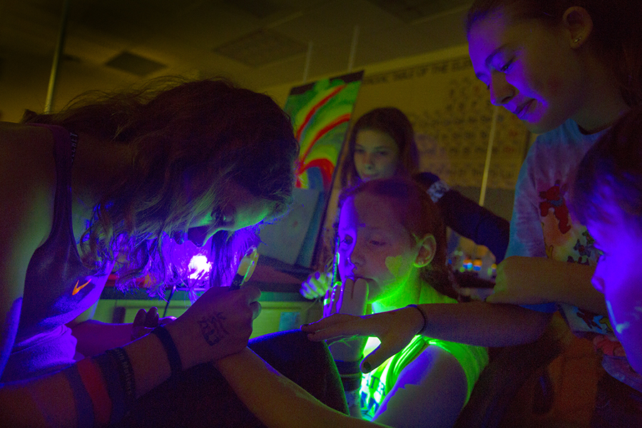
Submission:
[[[342,282],[328,292],[325,316],[365,315],[369,305],[376,313],[419,303],[457,303],[448,296],[452,275],[443,220],[412,180],[369,180],[346,190],[336,232]],[[330,350],[351,414],[391,427],[452,426],[488,360],[482,347],[418,335],[370,374],[349,372],[350,362],[357,370],[363,346],[369,352],[376,342],[345,340]]]

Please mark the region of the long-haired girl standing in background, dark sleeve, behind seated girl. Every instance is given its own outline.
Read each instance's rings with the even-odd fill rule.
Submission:
[[[407,116],[394,107],[374,108],[352,126],[342,164],[342,188],[376,178],[413,178],[437,203],[446,225],[459,235],[486,245],[497,262],[504,258],[509,223],[449,188],[437,175],[419,173],[419,153],[414,130]],[[301,294],[322,297],[330,287],[330,272],[315,272],[303,282]]]

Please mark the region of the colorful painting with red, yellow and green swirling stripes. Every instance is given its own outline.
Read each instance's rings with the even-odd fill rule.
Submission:
[[[297,188],[329,191],[363,71],[292,88],[285,111],[301,145]]]

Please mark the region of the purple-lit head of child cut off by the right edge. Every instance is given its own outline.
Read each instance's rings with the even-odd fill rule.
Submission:
[[[572,188],[575,218],[599,260],[591,282],[633,370],[642,374],[642,111],[635,108],[582,159]]]

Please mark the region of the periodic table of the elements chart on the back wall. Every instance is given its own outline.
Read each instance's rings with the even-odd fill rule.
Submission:
[[[366,73],[353,117],[382,106],[409,117],[422,170],[449,185],[479,188],[494,106],[468,56]],[[528,143],[524,124],[499,108],[487,188],[514,190]]]

